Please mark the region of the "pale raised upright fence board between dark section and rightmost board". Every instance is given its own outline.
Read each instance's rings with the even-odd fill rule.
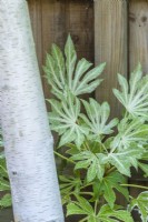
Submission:
[[[118,87],[117,73],[127,77],[127,1],[95,1],[95,58],[96,64],[107,62],[105,81],[96,91],[98,101],[108,101],[111,115],[120,115],[120,104],[112,94]]]

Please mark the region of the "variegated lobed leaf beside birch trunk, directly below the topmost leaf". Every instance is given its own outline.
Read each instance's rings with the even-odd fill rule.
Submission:
[[[80,147],[88,134],[87,127],[78,124],[80,101],[70,92],[67,100],[63,98],[61,102],[55,99],[48,101],[52,108],[52,112],[49,113],[51,129],[61,135],[59,147],[71,141]]]

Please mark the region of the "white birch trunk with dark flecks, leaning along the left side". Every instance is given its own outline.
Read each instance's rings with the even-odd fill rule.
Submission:
[[[0,0],[0,97],[16,222],[63,222],[26,0]]]

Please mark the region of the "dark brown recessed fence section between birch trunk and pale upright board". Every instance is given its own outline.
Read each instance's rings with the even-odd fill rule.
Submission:
[[[46,52],[57,43],[63,49],[68,33],[76,44],[78,58],[93,62],[93,4],[89,0],[29,0],[30,17],[39,67],[46,60]],[[46,98],[50,88],[42,77]]]

